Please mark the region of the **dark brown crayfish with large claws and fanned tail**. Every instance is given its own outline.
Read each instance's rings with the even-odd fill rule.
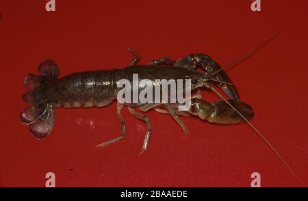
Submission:
[[[131,53],[133,53],[131,51]],[[146,79],[153,85],[157,84],[157,79],[174,79],[191,81],[192,96],[185,98],[191,100],[191,107],[187,111],[179,111],[180,103],[119,103],[117,104],[117,114],[122,126],[120,137],[99,144],[103,147],[125,137],[125,121],[120,114],[120,110],[126,105],[130,113],[146,123],[146,135],[142,152],[148,148],[149,138],[152,133],[149,118],[136,111],[148,111],[155,109],[160,113],[170,114],[183,131],[188,134],[188,128],[179,116],[196,116],[203,120],[216,124],[240,124],[251,120],[254,116],[253,109],[246,103],[240,101],[238,90],[226,72],[214,62],[208,55],[196,54],[187,55],[177,61],[172,61],[168,57],[155,59],[149,65],[136,65],[139,56],[135,56],[130,66],[114,70],[97,70],[75,72],[65,77],[58,78],[59,69],[55,62],[47,60],[40,64],[39,75],[27,75],[24,85],[30,91],[23,95],[23,100],[31,104],[21,111],[21,122],[29,125],[30,132],[34,137],[43,139],[51,132],[55,121],[55,108],[77,108],[77,107],[103,107],[118,100],[117,95],[123,87],[118,87],[123,79],[133,80],[133,75],[138,75],[138,79]],[[196,70],[202,68],[203,72]],[[229,96],[226,100],[214,85],[220,87]],[[142,91],[146,86],[138,88]],[[183,86],[182,86],[183,87]],[[181,88],[177,85],[177,88]],[[214,103],[207,103],[201,99],[201,88],[212,90],[221,100]],[[195,92],[197,90],[197,92]],[[170,91],[168,91],[170,94]]]

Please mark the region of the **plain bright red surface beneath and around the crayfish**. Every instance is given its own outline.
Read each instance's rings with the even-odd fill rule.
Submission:
[[[94,146],[120,133],[116,105],[57,109],[55,127],[38,141],[18,120],[25,103],[23,77],[42,60],[54,59],[60,76],[80,70],[125,66],[138,51],[142,64],[170,53],[208,53],[224,65],[277,36],[228,73],[242,100],[255,109],[252,123],[308,183],[308,1],[0,1],[1,186],[249,187],[300,186],[272,150],[246,124],[219,126],[183,118],[186,137],[170,116],[150,111],[153,135],[140,152],[144,122],[127,109],[127,137]],[[207,98],[209,93],[204,93]],[[207,98],[212,100],[213,98]]]

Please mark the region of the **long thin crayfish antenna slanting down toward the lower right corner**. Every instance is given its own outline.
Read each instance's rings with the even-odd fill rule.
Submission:
[[[251,124],[251,122],[249,122],[243,115],[242,113],[240,113],[240,111],[238,111],[238,109],[236,109],[235,107],[233,107],[233,105],[231,105],[226,98],[224,98],[224,96],[222,96],[213,86],[211,86],[209,83],[205,84],[205,88],[209,88],[210,90],[214,91],[220,98],[222,98],[222,100],[224,100],[225,103],[227,103],[232,109],[234,109],[234,111],[236,111],[244,120],[245,122],[251,127],[251,129],[253,129],[253,131],[255,131],[255,133],[257,133],[257,135],[259,135],[259,137],[261,137],[261,139],[270,147],[270,149],[275,153],[275,155],[277,155],[277,157],[279,157],[279,159],[285,164],[285,167],[287,167],[288,170],[290,170],[290,172],[296,177],[296,180],[298,180],[298,182],[301,185],[305,185],[305,183],[303,183],[302,180],[300,180],[300,178],[295,174],[295,172],[292,170],[292,168],[290,167],[290,165],[287,164],[287,162],[285,162],[285,159],[283,159],[283,157],[281,157],[281,155],[279,154],[279,152],[277,152],[277,150],[274,148],[274,146],[272,146],[272,144],[270,144],[270,142],[268,142],[268,140],[264,137],[264,135],[262,135],[256,128],[255,126],[253,126],[253,124]]]

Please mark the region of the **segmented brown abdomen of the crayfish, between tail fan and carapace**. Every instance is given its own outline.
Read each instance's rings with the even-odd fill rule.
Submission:
[[[55,107],[102,107],[115,97],[114,76],[119,70],[76,72],[47,87],[48,102]]]

